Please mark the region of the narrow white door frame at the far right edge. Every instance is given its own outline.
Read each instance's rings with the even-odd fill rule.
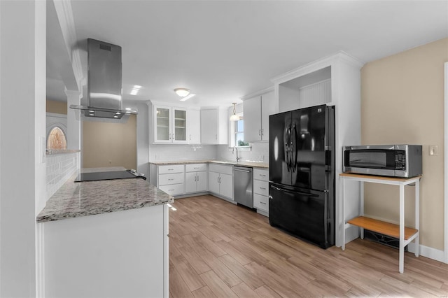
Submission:
[[[444,64],[444,262],[448,264],[448,62]]]

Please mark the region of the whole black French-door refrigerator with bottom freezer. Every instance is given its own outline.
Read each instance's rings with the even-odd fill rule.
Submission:
[[[335,245],[335,107],[269,116],[269,224]]]

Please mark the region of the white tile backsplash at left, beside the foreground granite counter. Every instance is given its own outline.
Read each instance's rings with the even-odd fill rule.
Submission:
[[[46,156],[46,200],[76,173],[79,158],[80,152]]]

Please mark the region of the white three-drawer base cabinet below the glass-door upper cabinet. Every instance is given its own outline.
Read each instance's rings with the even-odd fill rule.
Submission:
[[[158,166],[157,187],[172,196],[183,194],[185,192],[184,173],[183,164]]]

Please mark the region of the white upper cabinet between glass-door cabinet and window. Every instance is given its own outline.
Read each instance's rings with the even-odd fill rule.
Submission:
[[[228,111],[227,108],[201,109],[201,143],[228,143]]]

